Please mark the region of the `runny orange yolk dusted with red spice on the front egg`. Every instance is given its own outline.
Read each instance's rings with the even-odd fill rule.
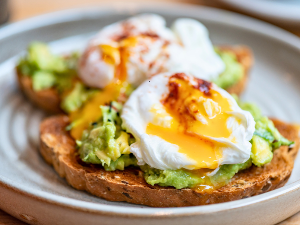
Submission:
[[[155,120],[165,115],[153,111],[158,118],[148,124],[146,133],[179,146],[180,153],[197,162],[190,169],[215,169],[222,157],[220,148],[223,145],[203,135],[228,138],[229,115],[226,112],[232,110],[228,99],[210,89],[210,83],[197,81],[197,84],[191,84],[184,74],[170,78],[170,93],[162,104],[172,119],[169,125],[157,124]]]

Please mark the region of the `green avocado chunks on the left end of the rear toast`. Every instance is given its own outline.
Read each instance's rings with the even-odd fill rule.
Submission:
[[[96,92],[77,78],[78,59],[76,52],[57,56],[51,53],[47,44],[32,42],[17,69],[32,78],[34,91],[55,88],[61,95],[61,108],[69,113],[80,108]]]

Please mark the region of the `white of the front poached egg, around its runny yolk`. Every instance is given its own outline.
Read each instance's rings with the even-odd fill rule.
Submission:
[[[169,94],[168,82],[169,77],[173,74],[170,72],[158,74],[146,80],[131,94],[121,114],[122,126],[136,138],[136,142],[130,146],[130,151],[137,158],[139,165],[148,164],[161,170],[195,169],[197,162],[178,152],[179,146],[146,133],[149,123],[167,127],[167,121],[171,120],[170,115],[161,104],[161,100]],[[194,78],[189,75],[189,79],[190,82],[193,82]],[[228,92],[215,84],[212,84],[211,89],[219,92],[230,102],[232,112],[229,112],[231,116],[227,120],[227,128],[231,134],[228,138],[204,137],[225,145],[221,148],[222,158],[218,162],[219,165],[244,163],[251,154],[249,141],[255,131],[254,118],[248,111],[242,110]],[[158,111],[161,118],[160,121],[155,119],[156,115],[152,112],[153,107],[156,107],[156,112]]]

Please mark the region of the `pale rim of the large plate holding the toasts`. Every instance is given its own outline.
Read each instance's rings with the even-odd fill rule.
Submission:
[[[136,2],[116,2],[116,3],[101,3],[96,6],[74,8],[53,13],[48,13],[26,20],[22,20],[16,23],[11,23],[0,28],[0,39],[7,38],[11,35],[18,34],[25,30],[30,30],[54,23],[80,20],[82,17],[93,17],[95,13],[110,11],[114,12],[138,12],[139,9],[155,9],[156,11],[164,11],[164,9],[173,14],[176,11],[188,12],[192,17],[198,17],[207,19],[210,21],[216,21],[219,23],[235,26],[248,31],[256,32],[265,35],[269,38],[280,41],[286,45],[293,47],[300,51],[300,38],[297,36],[280,29],[276,26],[270,25],[266,22],[259,21],[238,13],[228,12],[222,9],[215,9],[206,6],[195,6],[182,3],[136,3]],[[200,13],[199,13],[200,12]],[[187,14],[187,13],[186,13]],[[206,18],[205,18],[206,17]],[[300,189],[300,180],[286,185],[280,189],[273,190],[271,192],[253,196],[238,201],[204,205],[204,206],[193,206],[193,207],[181,207],[181,208],[136,208],[136,207],[123,207],[123,206],[112,206],[99,203],[85,202],[75,199],[70,199],[63,196],[57,196],[55,194],[47,193],[40,190],[32,190],[20,183],[17,183],[11,179],[8,179],[0,175],[0,185],[6,189],[16,191],[24,194],[30,198],[35,198],[48,203],[54,203],[63,207],[69,207],[72,209],[89,211],[98,214],[110,214],[115,216],[130,215],[135,217],[169,217],[169,216],[190,216],[215,213],[220,211],[226,211],[234,208],[246,207],[252,204],[258,204],[261,202],[273,200],[282,195],[297,191]]]

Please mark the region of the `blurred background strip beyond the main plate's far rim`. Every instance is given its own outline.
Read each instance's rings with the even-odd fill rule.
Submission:
[[[0,24],[52,11],[113,1],[128,0],[0,0]],[[300,36],[300,0],[150,0],[150,2],[189,3],[230,10],[270,22]]]

